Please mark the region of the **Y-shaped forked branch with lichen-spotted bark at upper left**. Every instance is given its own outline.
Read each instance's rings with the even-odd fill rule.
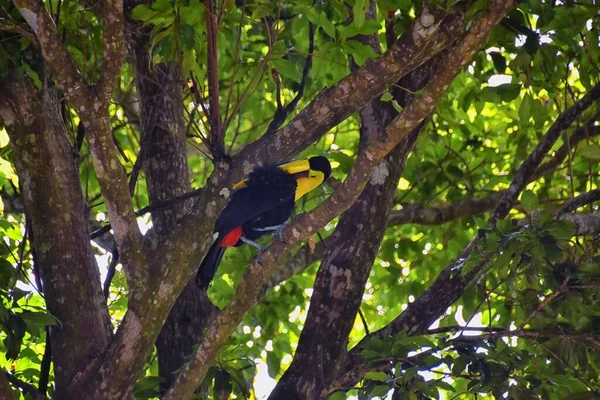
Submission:
[[[135,220],[133,204],[127,189],[127,177],[112,142],[112,127],[108,117],[108,102],[112,91],[112,83],[103,81],[100,93],[89,90],[77,72],[72,58],[60,41],[52,17],[37,0],[16,0],[15,4],[29,26],[38,37],[42,54],[52,74],[56,77],[57,86],[66,94],[74,108],[83,119],[88,133],[94,169],[111,223],[115,229],[115,240],[123,259],[123,265],[130,286],[135,289],[141,282],[145,262],[141,245],[141,233]],[[110,8],[110,6],[113,8]],[[117,0],[106,2],[105,34],[109,38],[105,44],[105,57],[109,71],[105,78],[118,74],[122,62],[123,16],[122,4]],[[116,16],[115,14],[119,14]],[[110,20],[110,21],[109,21]]]

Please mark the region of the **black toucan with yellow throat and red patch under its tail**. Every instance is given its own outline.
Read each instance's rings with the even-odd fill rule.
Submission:
[[[258,166],[236,183],[229,203],[215,223],[216,238],[196,275],[198,286],[208,287],[228,247],[246,243],[263,250],[256,240],[268,233],[279,235],[295,202],[329,175],[329,160],[314,156],[287,164]]]

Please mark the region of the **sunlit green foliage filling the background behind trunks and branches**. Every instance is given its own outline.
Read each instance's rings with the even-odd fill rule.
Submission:
[[[112,211],[106,200],[110,191],[105,190],[98,174],[99,156],[88,137],[92,128],[84,123],[87,116],[80,112],[76,95],[71,97],[65,89],[68,83],[60,79],[58,83],[57,74],[45,65],[56,60],[48,56],[48,51],[42,52],[46,42],[36,38],[40,35],[23,18],[25,5],[15,3],[18,7],[4,1],[0,11],[0,80],[25,82],[22,87],[31,91],[30,96],[58,96],[57,118],[64,124],[72,147],[89,229],[95,231],[110,222]],[[56,23],[55,36],[86,84],[100,85],[110,61],[105,59],[103,46],[105,16],[110,14],[111,4],[107,2],[104,9],[84,0],[43,3]],[[424,9],[444,13],[457,7],[464,11],[469,29],[482,13],[493,11],[497,3],[126,1],[128,56],[116,75],[114,87],[110,86],[112,95],[106,111],[114,142],[110,151],[116,152],[127,174],[133,209],[142,210],[137,220],[142,230],[153,231],[155,214],[151,217],[143,209],[150,206],[154,212],[158,203],[148,195],[152,183],[148,182],[147,164],[142,161],[145,155],[140,150],[145,143],[141,132],[152,124],[152,120],[144,120],[149,118],[144,114],[149,107],[145,102],[151,100],[136,87],[142,77],[132,61],[135,57],[131,32],[146,37],[148,71],[176,66],[175,76],[179,79],[175,80],[175,87],[181,91],[179,100],[183,102],[179,117],[185,135],[184,155],[190,188],[197,189],[210,187],[211,179],[222,179],[214,178],[217,174],[213,171],[227,170],[230,156],[246,154],[243,152],[249,143],[265,135],[273,135],[271,141],[278,140],[276,130],[280,126],[289,121],[292,122],[287,126],[292,126],[301,118],[300,110],[319,98],[327,98],[329,88],[339,85],[351,71],[360,71],[371,60],[376,61],[398,37],[410,32]],[[368,266],[360,315],[355,311],[339,316],[353,321],[347,346],[343,346],[347,347],[347,354],[339,355],[337,370],[320,372],[326,377],[316,383],[322,396],[600,396],[599,11],[597,2],[592,0],[520,3],[502,18],[484,46],[476,49],[468,66],[453,79],[435,111],[418,128],[414,147],[403,156],[401,177],[392,185],[388,223],[379,229],[383,238],[376,259]],[[442,75],[444,57],[458,51],[452,46],[462,40],[462,35],[454,33],[450,44],[444,45],[449,51],[434,51],[435,46],[431,47],[429,57],[441,59],[441,67],[438,65],[429,81],[436,74]],[[422,53],[418,57],[423,57]],[[424,61],[408,72],[422,69]],[[374,81],[379,78],[372,77]],[[0,86],[0,97],[10,98],[7,87]],[[411,101],[422,102],[420,95],[428,93],[423,85],[405,87],[402,81],[386,87],[377,95],[379,102],[373,101],[375,107],[389,107],[393,113],[401,112]],[[169,90],[154,96],[169,96]],[[348,96],[354,99],[363,94]],[[371,100],[365,99],[361,104]],[[6,381],[12,389],[0,390],[0,397],[11,391],[15,398],[52,397],[57,365],[56,360],[53,366],[50,364],[54,353],[49,348],[48,335],[50,330],[63,329],[64,321],[46,308],[43,293],[48,296],[48,292],[41,289],[46,285],[41,279],[44,274],[36,265],[36,253],[46,251],[39,246],[52,243],[36,242],[38,233],[32,228],[35,217],[23,199],[22,185],[29,176],[26,163],[17,161],[14,154],[16,140],[24,141],[26,147],[27,140],[36,139],[27,133],[18,138],[6,104],[0,102],[0,388]],[[269,162],[311,154],[325,155],[333,162],[332,179],[298,204],[298,214],[315,207],[315,212],[320,212],[318,205],[338,191],[353,169],[360,168],[360,149],[376,140],[367,140],[361,130],[365,129],[364,114],[349,110],[341,122],[319,134],[310,146],[297,148],[285,142],[283,146],[287,147],[280,154],[262,154],[261,158]],[[312,117],[331,118],[328,111],[321,116],[318,110],[313,111]],[[307,121],[310,119],[300,120],[300,127],[294,128],[298,129],[298,138],[311,130]],[[385,127],[381,126],[381,135]],[[555,143],[546,142],[551,135],[560,137]],[[549,149],[536,149],[544,142]],[[539,151],[541,165],[527,164],[526,160]],[[256,161],[248,157],[249,163]],[[396,164],[401,162],[396,160]],[[515,189],[515,195],[520,194],[520,199],[510,203],[503,195],[513,190],[519,179],[522,185]],[[371,182],[374,180],[371,178]],[[385,187],[381,186],[381,190]],[[166,194],[162,200],[185,191],[188,190]],[[53,198],[52,202],[55,200],[60,201]],[[182,204],[182,200],[176,204]],[[506,218],[498,211],[498,204],[508,205]],[[219,206],[222,205],[221,199]],[[200,209],[197,204],[193,207]],[[386,204],[369,207],[376,209],[375,214],[387,212]],[[340,206],[334,216],[346,208]],[[61,208],[57,215],[64,212]],[[189,213],[189,209],[185,212]],[[43,223],[49,230],[63,221],[51,213],[46,217]],[[255,398],[265,392],[265,386],[275,386],[282,378],[299,348],[311,298],[318,290],[325,290],[315,286],[323,253],[334,252],[332,249],[341,248],[342,243],[360,247],[373,241],[374,246],[379,246],[378,239],[361,236],[360,232],[340,232],[336,237],[333,233],[339,220],[332,219],[319,235],[295,246],[287,261],[280,263],[268,289],[260,293],[254,307],[247,305],[241,323],[235,324],[237,328],[210,360],[197,398]],[[356,221],[356,225],[362,226],[363,222]],[[201,232],[207,243],[211,229],[212,222]],[[127,252],[120,247],[121,238],[115,236],[116,245],[112,231],[100,235],[93,242],[93,252],[104,282],[112,331],[116,332],[128,302],[131,308],[130,286],[135,275],[128,276],[121,265],[122,255]],[[321,242],[326,243],[325,249]],[[161,241],[154,246],[160,251]],[[190,265],[199,265],[197,256],[202,254],[195,254],[196,260]],[[254,257],[255,250],[248,246],[226,253],[208,290],[214,305],[222,309],[230,303],[246,265]],[[125,260],[131,265],[137,262],[134,257]],[[321,268],[326,267],[330,264],[323,262]],[[77,273],[76,266],[69,268]],[[193,266],[182,266],[183,269],[190,279]],[[432,284],[441,280],[441,289],[432,289]],[[459,280],[466,283],[453,286]],[[93,285],[98,290],[102,287],[100,281]],[[182,289],[183,283],[176,295]],[[150,291],[142,293],[151,302],[154,295]],[[446,296],[454,295],[457,300],[444,306],[445,312],[427,315],[433,304],[428,301],[444,304],[448,301]],[[419,303],[419,299],[423,302]],[[75,297],[72,301],[86,299]],[[159,304],[163,304],[161,301]],[[332,311],[336,304],[331,305]],[[62,306],[71,305],[67,301]],[[172,302],[166,307],[171,305]],[[433,319],[425,327],[419,325],[425,322],[416,319],[394,325],[393,321],[406,311]],[[203,325],[204,332],[211,323],[212,320]],[[320,324],[321,335],[337,326],[331,321]],[[157,332],[149,334],[152,342]],[[140,333],[140,337],[146,340],[144,334]],[[306,340],[317,342],[326,340],[324,337],[316,335]],[[143,367],[137,372],[134,398],[161,395],[159,384],[165,379],[159,374],[160,355],[151,348],[150,344]],[[76,343],[73,349],[77,351]],[[307,364],[305,369],[319,369],[319,357],[324,356],[313,357],[317,365]],[[348,360],[351,364],[344,365]],[[355,374],[354,378],[348,379],[350,373]]]

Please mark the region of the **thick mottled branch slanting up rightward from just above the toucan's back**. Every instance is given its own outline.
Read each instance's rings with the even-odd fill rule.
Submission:
[[[367,62],[357,72],[315,99],[276,133],[264,135],[235,157],[234,176],[240,177],[259,162],[284,161],[339,124],[390,85],[438,54],[465,30],[464,4],[449,12],[424,7],[415,22],[383,56]],[[356,93],[361,93],[356,96]]]

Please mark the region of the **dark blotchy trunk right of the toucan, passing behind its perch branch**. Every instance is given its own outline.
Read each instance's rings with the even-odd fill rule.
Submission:
[[[370,4],[367,17],[375,17],[374,2]],[[391,43],[395,40],[394,37],[390,39]],[[380,52],[376,35],[359,35],[357,40]],[[422,65],[404,77],[399,86],[411,91],[423,88],[435,65],[435,59]],[[357,69],[353,62],[351,67]],[[395,99],[402,107],[410,101],[407,93],[406,90],[396,93]],[[360,149],[383,138],[386,127],[396,115],[389,102],[374,100],[367,104],[360,112]],[[323,389],[343,371],[348,337],[385,233],[396,186],[422,126],[415,128],[384,158],[356,203],[342,214],[333,234],[333,243],[325,251],[317,273],[294,360],[270,399],[322,398]],[[306,368],[308,365],[316,368]]]

